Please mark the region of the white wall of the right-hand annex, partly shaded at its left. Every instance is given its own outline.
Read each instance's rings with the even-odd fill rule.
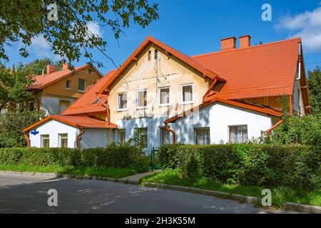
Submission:
[[[193,121],[193,118],[195,121]],[[195,128],[210,128],[210,143],[228,142],[229,125],[248,125],[248,138],[258,138],[261,130],[272,127],[275,120],[265,113],[259,113],[245,108],[223,103],[214,103],[199,110],[199,114],[192,114],[181,118],[170,125],[175,130],[177,141],[194,144]],[[272,123],[273,122],[273,123]]]

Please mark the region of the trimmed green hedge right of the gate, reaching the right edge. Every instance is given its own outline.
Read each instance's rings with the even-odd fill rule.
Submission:
[[[240,185],[320,189],[321,148],[303,145],[164,145],[163,168]]]

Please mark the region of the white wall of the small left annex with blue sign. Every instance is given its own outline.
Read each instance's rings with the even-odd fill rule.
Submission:
[[[68,147],[76,147],[76,138],[79,134],[78,128],[74,128],[56,120],[49,120],[34,129],[39,131],[39,133],[37,135],[29,133],[31,147],[41,147],[41,135],[49,135],[50,147],[58,147],[58,134],[68,134]],[[31,129],[30,131],[33,131],[34,129]]]

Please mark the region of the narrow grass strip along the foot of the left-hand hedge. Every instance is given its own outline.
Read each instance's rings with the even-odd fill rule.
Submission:
[[[75,166],[35,166],[35,165],[0,165],[0,170],[19,172],[54,172],[58,174],[88,175],[121,178],[136,174],[131,168],[115,167],[75,167]]]

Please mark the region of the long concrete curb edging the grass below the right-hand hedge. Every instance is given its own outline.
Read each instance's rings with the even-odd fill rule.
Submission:
[[[166,190],[175,190],[175,191],[182,191],[182,192],[192,192],[200,195],[210,195],[213,197],[223,197],[223,198],[229,198],[229,199],[237,199],[242,202],[249,202],[249,203],[257,203],[260,202],[261,199],[258,197],[247,197],[244,195],[237,195],[237,194],[230,194],[227,192],[218,192],[218,191],[211,191],[211,190],[203,190],[200,188],[195,187],[184,187],[184,186],[178,186],[178,185],[165,185],[165,184],[159,184],[159,183],[151,183],[151,182],[145,182],[143,183],[146,187],[157,187],[162,188]]]

